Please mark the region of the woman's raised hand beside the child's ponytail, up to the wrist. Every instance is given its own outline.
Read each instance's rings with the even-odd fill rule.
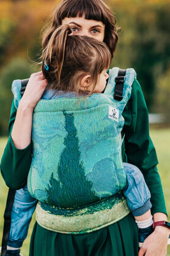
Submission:
[[[27,108],[34,109],[47,85],[48,81],[46,81],[42,71],[32,73],[20,103]]]

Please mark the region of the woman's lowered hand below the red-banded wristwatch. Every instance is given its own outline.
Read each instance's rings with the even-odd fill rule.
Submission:
[[[165,256],[167,253],[169,229],[157,226],[139,250],[138,256]]]

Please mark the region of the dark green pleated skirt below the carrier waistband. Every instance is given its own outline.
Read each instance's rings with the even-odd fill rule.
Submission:
[[[29,256],[138,256],[138,228],[132,214],[95,232],[67,235],[35,222]]]

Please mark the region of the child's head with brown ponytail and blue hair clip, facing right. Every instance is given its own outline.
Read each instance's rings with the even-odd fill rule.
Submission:
[[[75,36],[70,26],[62,25],[52,34],[51,29],[46,33],[42,47],[42,71],[51,89],[89,92],[88,96],[103,91],[108,78],[106,70],[111,64],[111,53],[105,43]]]

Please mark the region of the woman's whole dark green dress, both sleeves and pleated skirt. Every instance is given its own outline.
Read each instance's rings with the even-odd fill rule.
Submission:
[[[25,149],[13,145],[10,133],[17,109],[12,102],[9,140],[1,159],[1,173],[7,186],[20,189],[27,181],[32,157],[32,142]],[[124,109],[125,140],[122,144],[124,162],[136,165],[143,173],[151,193],[152,214],[166,213],[157,154],[149,137],[149,119],[141,87],[135,79],[131,97]],[[10,159],[10,161],[9,161]],[[138,230],[131,214],[115,224],[83,235],[51,232],[35,223],[30,256],[54,255],[138,255]]]

